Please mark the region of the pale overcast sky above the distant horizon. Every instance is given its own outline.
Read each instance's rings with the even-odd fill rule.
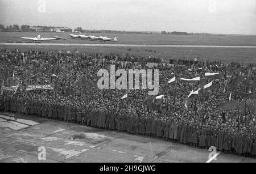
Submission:
[[[0,16],[5,26],[256,35],[256,0],[0,0]]]

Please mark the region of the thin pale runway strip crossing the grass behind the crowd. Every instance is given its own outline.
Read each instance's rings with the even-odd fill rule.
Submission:
[[[36,46],[119,46],[119,47],[166,47],[166,48],[256,48],[256,46],[219,46],[219,45],[137,45],[137,44],[60,44],[60,43],[0,43],[0,45]]]

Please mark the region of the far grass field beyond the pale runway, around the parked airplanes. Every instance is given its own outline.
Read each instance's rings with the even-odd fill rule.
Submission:
[[[20,37],[43,37],[60,36],[68,40],[49,41],[51,43],[100,43],[100,41],[69,39],[71,33],[40,33],[40,32],[0,32],[0,41],[26,41]],[[76,34],[76,33],[75,33]],[[101,33],[81,33],[81,35],[95,35],[118,37],[118,44],[154,44],[154,45],[237,45],[256,46],[256,36],[183,36],[183,35],[160,35],[160,34],[101,34]],[[79,34],[77,34],[79,35]],[[112,44],[112,42],[106,42]],[[116,44],[116,43],[114,43]]]

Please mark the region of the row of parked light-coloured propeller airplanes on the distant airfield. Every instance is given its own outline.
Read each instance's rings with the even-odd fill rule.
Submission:
[[[114,42],[117,42],[117,37],[115,37],[114,39],[112,38],[109,38],[109,37],[106,37],[106,36],[100,36],[100,37],[97,37],[97,36],[85,36],[85,35],[69,35],[69,37],[71,37],[72,39],[76,39],[76,38],[79,38],[79,39],[88,39],[88,40],[100,40],[100,41],[114,41]],[[46,41],[46,40],[65,40],[63,37],[59,37],[59,36],[53,36],[53,37],[49,37],[49,38],[46,38],[46,37],[42,37],[40,35],[36,36],[36,37],[21,37],[22,39],[29,39],[29,40],[32,40],[32,41]]]

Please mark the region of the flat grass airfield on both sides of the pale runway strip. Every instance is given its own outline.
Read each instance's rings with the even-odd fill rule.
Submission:
[[[69,43],[69,44],[102,44],[100,41],[69,39],[69,33],[23,33],[23,32],[0,32],[0,41],[22,40],[20,37],[34,37],[36,35],[43,37],[60,36],[67,40],[51,41],[51,43]],[[85,35],[91,35],[86,33]],[[94,34],[100,36],[102,34]],[[177,35],[138,35],[138,34],[103,34],[104,36],[117,36],[119,42],[114,44],[155,44],[155,45],[225,45],[225,46],[256,46],[256,36],[177,36]],[[27,40],[22,40],[27,41]],[[49,42],[48,42],[49,43]],[[166,47],[144,47],[144,46],[108,46],[111,42],[103,43],[106,46],[40,46],[40,45],[0,45],[0,49],[20,49],[20,50],[78,50],[80,52],[110,54],[123,53],[135,54],[138,56],[157,56],[162,57],[164,62],[170,58],[179,58],[191,60],[193,58],[203,60],[221,60],[223,62],[242,61],[256,63],[256,48],[166,48]],[[128,51],[127,49],[131,49]],[[147,52],[151,49],[153,52]],[[155,51],[155,52],[154,52]]]

